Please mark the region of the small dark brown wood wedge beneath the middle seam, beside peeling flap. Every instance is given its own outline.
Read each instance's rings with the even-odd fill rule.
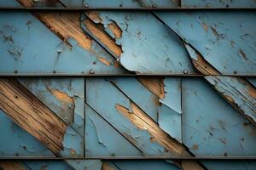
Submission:
[[[165,97],[165,86],[163,77],[138,77],[137,80],[143,84],[150,92],[160,99]]]

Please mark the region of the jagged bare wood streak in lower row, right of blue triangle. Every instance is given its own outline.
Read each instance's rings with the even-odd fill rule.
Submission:
[[[131,111],[122,105],[115,105],[119,113],[128,118],[137,128],[146,130],[152,136],[151,141],[155,140],[162,145],[166,150],[172,152],[177,156],[182,156],[186,153],[182,144],[179,144],[175,139],[170,138],[156,122],[148,117],[141,109],[131,102]]]

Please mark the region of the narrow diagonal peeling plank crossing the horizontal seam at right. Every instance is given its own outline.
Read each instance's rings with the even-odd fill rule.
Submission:
[[[195,68],[202,74],[218,75],[218,71],[199,54],[189,44],[185,47],[191,56]],[[230,103],[237,111],[246,116],[253,123],[256,121],[256,88],[253,87],[246,79],[241,77],[221,77],[205,76],[207,82],[212,84],[227,102]]]

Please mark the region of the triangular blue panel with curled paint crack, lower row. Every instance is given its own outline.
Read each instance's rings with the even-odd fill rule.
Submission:
[[[85,104],[85,156],[142,156],[111,124]]]

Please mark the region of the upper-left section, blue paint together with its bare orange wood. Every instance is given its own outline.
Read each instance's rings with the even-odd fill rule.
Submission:
[[[90,74],[91,70],[95,74],[127,73],[123,68],[116,67],[113,56],[85,36],[80,25],[75,24],[79,23],[78,13],[42,13],[41,22],[26,12],[1,14],[1,34],[11,35],[13,45],[23,48],[20,58],[15,60],[15,57],[8,52],[9,42],[1,41],[3,49],[6,49],[1,51],[0,71],[2,73],[82,75]],[[17,20],[9,20],[9,17]],[[28,20],[29,26],[26,25]],[[67,26],[68,22],[74,24]],[[25,26],[20,26],[20,23],[25,23]],[[41,41],[38,42],[37,38],[42,34],[47,37],[41,36]],[[73,67],[73,65],[76,66]]]

